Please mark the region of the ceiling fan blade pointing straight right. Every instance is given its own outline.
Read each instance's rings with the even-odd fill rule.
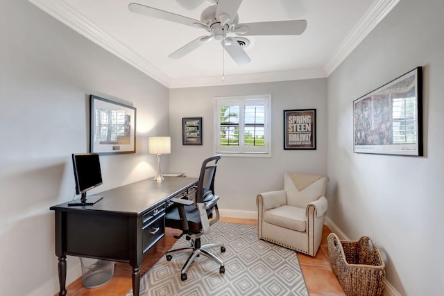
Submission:
[[[246,33],[244,33],[244,31],[246,31],[244,27],[248,28]],[[305,28],[307,28],[307,21],[305,19],[293,21],[263,21],[259,23],[238,24],[233,32],[243,36],[300,35],[304,33]]]

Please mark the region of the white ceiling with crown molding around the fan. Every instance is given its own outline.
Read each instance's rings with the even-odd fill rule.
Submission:
[[[244,0],[239,23],[306,19],[308,25],[302,35],[248,36],[251,62],[241,66],[216,40],[168,58],[209,33],[128,10],[136,2],[199,20],[208,0],[29,1],[173,88],[327,77],[400,0]]]

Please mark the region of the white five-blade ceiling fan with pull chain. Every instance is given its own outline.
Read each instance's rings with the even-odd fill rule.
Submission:
[[[173,12],[160,10],[157,8],[144,6],[139,3],[130,3],[128,9],[131,12],[148,17],[156,17],[166,21],[173,21],[179,24],[201,28],[210,35],[200,36],[196,40],[182,46],[177,51],[171,53],[169,58],[182,58],[191,51],[194,51],[203,44],[211,40],[221,41],[225,51],[237,64],[248,64],[251,60],[244,51],[244,46],[248,46],[250,41],[245,37],[248,35],[300,35],[307,28],[307,21],[263,21],[257,23],[239,24],[237,10],[241,6],[242,0],[209,0],[213,5],[205,8],[200,15],[200,21]],[[234,33],[237,36],[228,36]]]

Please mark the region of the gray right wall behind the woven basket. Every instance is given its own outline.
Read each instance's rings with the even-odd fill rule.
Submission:
[[[372,236],[401,295],[443,295],[444,2],[402,0],[328,78],[329,218]],[[352,101],[424,67],[424,157],[353,153]]]

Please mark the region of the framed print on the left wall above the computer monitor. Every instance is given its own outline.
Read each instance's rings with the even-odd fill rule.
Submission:
[[[136,152],[136,108],[99,96],[90,96],[91,153],[110,155]]]

